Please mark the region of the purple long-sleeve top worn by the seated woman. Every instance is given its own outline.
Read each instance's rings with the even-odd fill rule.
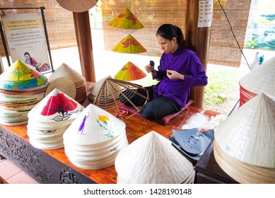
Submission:
[[[166,75],[168,69],[183,74],[185,79],[170,80]],[[174,53],[162,54],[156,79],[160,82],[153,88],[153,98],[158,98],[162,94],[181,107],[185,107],[188,102],[192,86],[206,86],[208,83],[199,57],[192,50],[184,47],[178,47]]]

